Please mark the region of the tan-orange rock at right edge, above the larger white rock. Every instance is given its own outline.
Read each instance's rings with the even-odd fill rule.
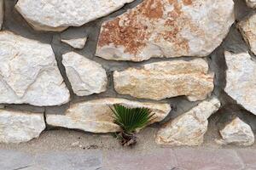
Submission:
[[[246,20],[242,20],[238,24],[243,39],[251,48],[253,54],[256,54],[256,14],[253,14]]]

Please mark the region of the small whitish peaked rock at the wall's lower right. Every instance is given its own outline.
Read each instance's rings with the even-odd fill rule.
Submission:
[[[244,146],[254,144],[252,128],[238,117],[227,124],[219,133],[222,139],[217,140],[218,144],[238,144]]]

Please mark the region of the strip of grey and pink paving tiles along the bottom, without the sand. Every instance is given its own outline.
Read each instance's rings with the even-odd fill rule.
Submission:
[[[253,170],[256,150],[170,149],[49,151],[0,150],[1,170]]]

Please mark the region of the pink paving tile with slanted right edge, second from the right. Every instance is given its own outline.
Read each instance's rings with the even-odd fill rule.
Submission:
[[[175,149],[178,167],[188,170],[241,170],[235,150]]]

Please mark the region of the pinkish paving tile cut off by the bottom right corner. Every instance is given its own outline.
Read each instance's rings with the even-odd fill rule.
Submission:
[[[256,169],[256,150],[240,149],[236,152],[241,157],[241,161],[243,161],[247,170]]]

